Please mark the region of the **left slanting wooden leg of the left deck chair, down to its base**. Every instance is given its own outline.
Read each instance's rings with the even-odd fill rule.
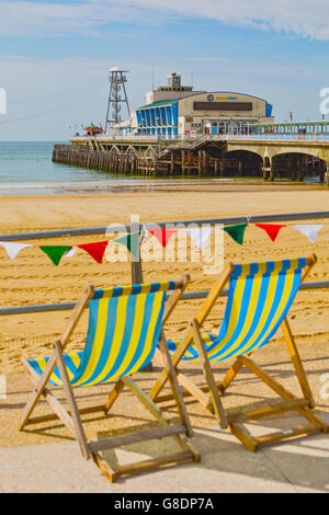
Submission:
[[[64,387],[64,390],[66,392],[68,405],[69,405],[69,409],[70,409],[70,413],[71,413],[71,417],[72,417],[72,422],[73,422],[73,426],[75,426],[76,437],[77,437],[77,440],[79,442],[82,456],[86,459],[89,459],[90,456],[91,456],[91,453],[89,450],[86,434],[84,434],[84,431],[83,431],[83,427],[82,427],[82,423],[81,423],[77,401],[76,401],[76,398],[75,398],[73,389],[71,387],[71,384],[70,384],[70,380],[69,380],[69,377],[68,377],[68,374],[67,374],[65,360],[64,360],[64,357],[63,357],[60,342],[56,341],[54,343],[54,347],[55,347],[57,366],[58,366],[59,374],[60,374],[61,381],[63,381],[63,387]]]

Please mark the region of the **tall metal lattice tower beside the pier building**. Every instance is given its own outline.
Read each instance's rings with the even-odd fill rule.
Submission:
[[[121,104],[126,104],[128,116],[131,116],[131,110],[128,104],[128,98],[126,92],[125,83],[127,82],[127,77],[124,73],[128,73],[126,70],[120,70],[118,68],[110,68],[110,94],[107,102],[106,111],[106,121],[105,121],[105,133],[109,125],[118,124],[121,118]],[[112,108],[111,115],[110,111]]]

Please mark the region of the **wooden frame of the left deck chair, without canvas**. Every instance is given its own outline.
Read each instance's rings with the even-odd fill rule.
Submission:
[[[183,275],[182,278],[175,282],[175,289],[172,290],[171,295],[169,296],[168,300],[166,301],[166,308],[162,319],[162,327],[163,323],[168,320],[169,316],[171,314],[172,310],[174,309],[177,302],[179,301],[180,297],[182,296],[186,285],[190,281],[190,276],[188,274]],[[159,347],[160,351],[157,350],[158,354],[161,356],[161,360],[163,363],[163,367],[166,369],[166,377],[169,379],[173,399],[175,400],[180,420],[179,424],[170,423],[167,417],[162,414],[161,410],[157,407],[155,402],[139,388],[139,386],[129,376],[120,377],[112,390],[110,391],[106,402],[101,405],[78,409],[77,401],[73,393],[73,388],[71,387],[68,373],[65,366],[64,355],[63,352],[67,346],[70,336],[79,322],[79,319],[86,308],[88,308],[89,300],[93,297],[94,287],[88,286],[87,289],[81,295],[79,301],[77,302],[71,317],[67,323],[66,329],[64,330],[61,336],[56,340],[53,344],[54,352],[48,359],[46,368],[44,369],[43,374],[39,376],[33,367],[29,364],[26,359],[22,359],[22,364],[27,371],[32,382],[34,384],[34,390],[31,393],[31,397],[24,408],[22,414],[22,422],[20,430],[23,431],[25,426],[48,422],[53,420],[60,421],[71,431],[71,433],[77,438],[82,456],[86,459],[92,458],[94,462],[98,465],[102,473],[111,481],[115,481],[117,478],[129,474],[134,472],[141,472],[146,470],[150,470],[160,466],[164,465],[173,465],[183,461],[194,460],[200,461],[201,457],[198,453],[194,449],[192,444],[188,442],[186,437],[193,436],[192,426],[189,420],[189,415],[184,405],[184,401],[180,391],[180,387],[175,377],[174,369],[171,364],[170,355],[167,348],[167,341],[163,330],[161,330]],[[66,398],[68,401],[67,411],[60,402],[56,399],[56,397],[50,392],[47,388],[47,382],[56,367],[58,366],[61,380],[63,380],[63,388],[66,393]],[[98,413],[103,412],[107,415],[109,411],[113,407],[114,402],[117,400],[118,396],[122,393],[123,389],[127,387],[133,394],[137,397],[137,399],[144,404],[144,407],[154,415],[154,417],[160,423],[160,427],[151,428],[148,431],[143,431],[138,433],[129,433],[126,435],[121,435],[107,439],[101,439],[97,442],[88,442],[86,437],[86,433],[83,430],[81,415],[89,414],[89,413]],[[36,417],[31,417],[31,414],[37,404],[38,400],[43,397],[53,411],[55,413],[41,415]],[[181,447],[181,451],[177,454],[167,455],[159,458],[147,459],[143,461],[138,461],[131,465],[122,465],[113,468],[107,461],[105,461],[100,453],[105,449],[117,448],[127,444],[145,442],[154,438],[163,438],[166,436],[173,436],[177,443]]]

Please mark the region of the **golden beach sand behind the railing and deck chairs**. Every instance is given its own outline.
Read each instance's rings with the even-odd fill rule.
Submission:
[[[0,206],[0,233],[3,234],[126,224],[129,221],[131,214],[138,214],[141,222],[148,222],[325,211],[329,210],[329,191],[315,186],[282,184],[220,185],[207,183],[166,187],[156,185],[125,193],[1,196]],[[309,276],[309,281],[329,281],[329,220],[322,220],[322,222],[326,225],[316,244],[311,244],[306,237],[292,228],[283,229],[276,242],[272,243],[265,232],[250,226],[246,231],[243,247],[238,245],[225,234],[225,259],[232,262],[250,262],[294,258],[315,252],[319,261]],[[290,224],[292,225],[292,222]],[[103,236],[75,237],[44,240],[43,243],[79,244],[102,239],[104,239]],[[42,241],[33,243],[41,244]],[[145,281],[179,277],[184,271],[188,271],[192,276],[190,290],[208,289],[215,279],[214,276],[204,275],[202,266],[195,263],[144,264]],[[38,249],[25,249],[15,260],[11,261],[4,249],[0,247],[0,274],[1,307],[73,301],[88,283],[92,283],[95,287],[104,287],[131,282],[128,263],[104,262],[99,265],[83,251],[78,251],[71,259],[64,259],[56,267]],[[168,336],[181,335],[186,322],[197,311],[198,306],[200,301],[182,302],[168,324]],[[224,306],[225,300],[220,300],[205,329],[218,329]],[[52,341],[60,333],[68,317],[68,311],[1,317],[0,374],[8,377],[9,394],[4,402],[0,400],[0,446],[46,443],[52,442],[52,438],[68,437],[63,427],[54,431],[52,428],[46,436],[36,433],[18,434],[14,430],[8,431],[8,427],[16,426],[20,411],[26,402],[30,389],[29,378],[22,374],[21,357],[48,355]],[[291,311],[292,328],[297,335],[297,343],[309,373],[316,400],[325,411],[329,411],[329,401],[324,400],[320,396],[320,376],[329,370],[328,319],[328,290],[298,294]],[[82,319],[69,348],[78,348],[81,344],[84,327],[86,318]],[[259,354],[259,360],[264,363],[268,369],[274,373],[274,376],[283,378],[287,386],[295,386],[281,334],[277,334],[273,345]],[[224,368],[220,366],[217,373],[223,373],[223,370]],[[141,377],[146,387],[152,377],[156,377],[156,373],[151,377]],[[260,400],[261,396],[253,380],[251,381],[252,393],[246,394],[245,380],[250,382],[248,374],[241,376],[236,390],[237,397],[229,397],[229,407],[235,408],[239,404],[243,396],[247,401],[258,402]],[[103,390],[101,389],[98,394],[101,394]],[[93,391],[83,391],[79,394],[88,402],[91,393],[94,396]],[[128,419],[127,416],[118,416],[117,426],[123,420],[128,425],[134,422],[134,403],[131,400],[127,402],[131,408],[126,413],[129,412],[131,416]],[[213,423],[207,413],[200,410],[197,407],[191,407],[193,423],[201,427]],[[147,420],[147,417],[139,416],[139,411],[136,412],[135,419],[139,423]],[[95,427],[94,424],[90,424],[90,434],[97,431]],[[100,427],[98,426],[98,431]]]

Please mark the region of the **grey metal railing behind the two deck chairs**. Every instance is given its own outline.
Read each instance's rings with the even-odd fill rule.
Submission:
[[[293,214],[283,214],[283,215],[256,215],[248,217],[249,224],[259,224],[259,222],[280,222],[280,221],[297,221],[297,220],[317,220],[317,219],[328,219],[329,211],[317,211],[317,213],[293,213]],[[235,218],[209,218],[209,219],[198,219],[198,220],[178,220],[178,221],[162,221],[162,222],[152,222],[144,224],[144,227],[147,229],[152,228],[166,228],[167,224],[170,224],[172,228],[173,225],[190,225],[195,224],[201,225],[236,225],[246,222],[246,217],[235,217]],[[78,229],[57,229],[49,231],[36,231],[36,232],[21,232],[13,234],[0,234],[0,241],[26,241],[26,240],[38,240],[38,239],[49,239],[49,238],[63,238],[63,237],[72,237],[72,236],[100,236],[115,233],[118,231],[126,230],[126,232],[136,231],[136,229],[141,229],[143,226],[136,224],[121,225],[121,226],[107,226],[107,227],[90,227],[90,228],[78,228]],[[138,279],[138,281],[136,281]],[[137,283],[143,281],[143,271],[141,262],[136,261],[132,262],[132,282]],[[303,290],[311,289],[327,289],[329,288],[329,281],[315,282],[315,283],[304,283],[300,286]],[[208,291],[190,291],[185,293],[182,296],[182,300],[197,300],[203,299],[208,295]],[[227,296],[227,290],[222,293],[222,296]],[[60,304],[45,304],[36,306],[15,306],[15,307],[4,307],[0,308],[0,316],[11,316],[11,314],[26,314],[26,313],[38,313],[45,311],[65,311],[71,310],[76,306],[76,302],[60,302]]]

